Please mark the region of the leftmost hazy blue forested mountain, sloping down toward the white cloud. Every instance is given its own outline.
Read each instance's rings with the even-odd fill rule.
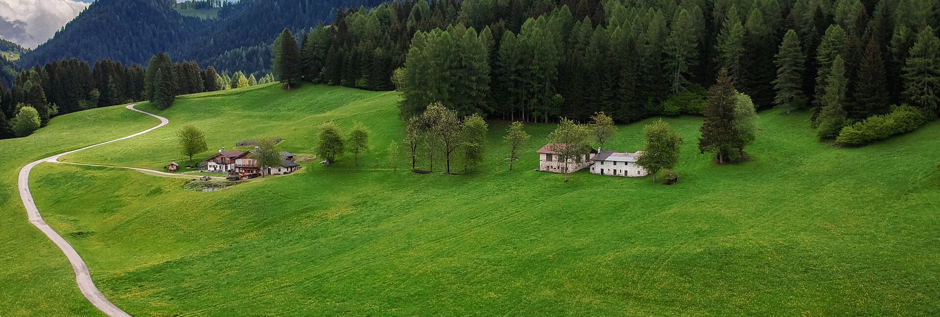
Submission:
[[[24,54],[21,65],[77,57],[146,63],[150,56],[192,38],[205,23],[183,17],[173,0],[99,0],[66,24],[55,38]]]

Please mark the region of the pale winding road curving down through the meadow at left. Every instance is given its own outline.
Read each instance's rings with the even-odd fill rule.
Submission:
[[[18,181],[18,185],[20,188],[20,199],[23,200],[23,204],[26,207],[26,215],[29,216],[29,222],[35,225],[37,228],[39,228],[39,231],[41,231],[43,234],[46,234],[46,236],[48,236],[49,239],[52,240],[56,246],[59,247],[59,249],[62,249],[62,252],[65,253],[65,256],[69,258],[69,262],[71,263],[71,268],[72,270],[75,271],[75,282],[78,284],[78,289],[81,290],[82,294],[85,295],[85,298],[87,298],[88,301],[91,302],[91,305],[94,305],[96,308],[101,309],[102,312],[112,317],[130,317],[131,315],[128,314],[127,312],[124,312],[124,310],[118,309],[118,307],[115,306],[115,304],[111,303],[111,301],[109,301],[107,298],[104,297],[104,294],[102,294],[102,292],[99,291],[97,287],[95,287],[95,282],[91,280],[91,274],[88,272],[88,266],[85,264],[85,261],[82,260],[82,257],[78,255],[78,252],[76,252],[74,248],[71,248],[71,245],[69,244],[69,242],[63,239],[61,235],[56,234],[55,230],[53,230],[53,228],[50,227],[48,224],[46,224],[46,221],[42,219],[42,215],[39,214],[39,208],[36,207],[36,203],[33,201],[33,194],[29,191],[29,173],[32,172],[33,168],[36,167],[36,165],[39,165],[39,163],[57,162],[58,158],[61,158],[62,156],[69,155],[78,151],[86,150],[86,149],[89,149],[98,145],[103,145],[107,143],[115,143],[121,140],[127,140],[130,138],[142,135],[144,133],[147,133],[149,131],[152,131],[154,129],[163,127],[170,122],[169,120],[167,120],[166,118],[160,115],[142,112],[133,108],[133,106],[134,106],[133,104],[128,105],[126,108],[132,111],[138,112],[138,113],[148,114],[149,116],[160,119],[160,124],[157,125],[156,127],[148,128],[146,130],[134,133],[132,135],[129,135],[129,136],[117,139],[117,140],[111,140],[111,141],[104,142],[104,143],[97,143],[97,144],[86,146],[77,150],[58,154],[49,158],[42,158],[32,163],[26,164],[26,166],[23,167],[23,170],[20,170],[20,178]]]

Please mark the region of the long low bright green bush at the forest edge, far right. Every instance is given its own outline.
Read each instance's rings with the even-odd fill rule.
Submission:
[[[863,145],[912,131],[920,128],[927,121],[927,115],[915,107],[909,105],[893,107],[891,113],[871,116],[852,126],[842,128],[838,133],[836,143]]]

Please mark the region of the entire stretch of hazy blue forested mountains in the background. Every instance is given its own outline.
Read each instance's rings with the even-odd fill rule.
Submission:
[[[385,0],[243,0],[211,20],[184,17],[173,0],[99,0],[32,53],[21,66],[77,57],[145,64],[158,52],[220,70],[266,72],[268,48],[285,27],[332,23],[337,8],[376,7]]]

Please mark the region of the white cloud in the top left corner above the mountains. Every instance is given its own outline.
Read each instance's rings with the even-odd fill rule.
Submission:
[[[75,0],[2,0],[0,38],[35,48],[87,7]]]

